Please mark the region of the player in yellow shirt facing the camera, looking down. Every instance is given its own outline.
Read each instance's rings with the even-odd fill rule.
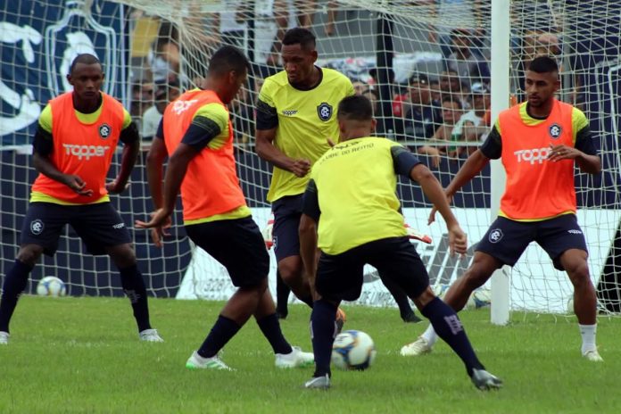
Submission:
[[[298,227],[302,194],[310,166],[338,137],[335,108],[354,95],[352,82],[336,70],[319,68],[315,36],[308,29],[286,31],[282,41],[285,70],[265,79],[257,104],[256,151],[273,166],[268,201],[274,212],[274,252],[278,274],[302,302],[312,307],[310,286],[303,275]],[[384,280],[383,280],[384,281]],[[418,321],[408,298],[385,282],[399,303],[402,319]],[[279,293],[287,294],[286,291]],[[336,324],[344,323],[339,309]]]

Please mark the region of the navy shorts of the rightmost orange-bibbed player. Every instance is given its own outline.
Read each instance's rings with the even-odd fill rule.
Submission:
[[[515,221],[499,217],[476,244],[475,250],[513,266],[531,242],[542,246],[554,267],[559,270],[564,270],[559,258],[567,250],[579,249],[588,253],[575,214],[564,214],[542,221]]]

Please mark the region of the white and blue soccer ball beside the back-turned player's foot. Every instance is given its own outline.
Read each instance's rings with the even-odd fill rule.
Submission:
[[[332,345],[332,364],[341,369],[367,369],[376,357],[375,344],[368,334],[348,330],[336,335]]]

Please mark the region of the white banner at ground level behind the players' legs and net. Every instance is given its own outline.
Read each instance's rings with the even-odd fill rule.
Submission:
[[[483,209],[454,209],[462,228],[468,233],[468,255],[459,259],[448,252],[448,237],[442,217],[426,226],[429,209],[403,209],[406,221],[433,238],[432,244],[416,242],[418,254],[426,264],[432,286],[449,285],[468,268],[474,253],[474,244],[490,225],[490,213]],[[262,228],[269,219],[268,208],[253,209],[253,219]],[[621,211],[578,211],[578,222],[584,230],[589,246],[589,266],[592,282],[597,285],[601,268],[609,253]],[[510,236],[510,235],[508,235]],[[269,252],[269,289],[276,294],[276,259]],[[244,258],[240,258],[244,260]],[[202,249],[196,248],[181,287],[178,299],[227,300],[235,292],[228,272]],[[554,269],[551,259],[537,244],[530,244],[513,268],[511,277],[510,306],[512,310],[537,310],[564,313],[573,292],[567,274]],[[292,294],[290,302],[297,302]],[[358,304],[370,306],[396,306],[393,297],[377,277],[376,269],[365,268],[365,283]]]

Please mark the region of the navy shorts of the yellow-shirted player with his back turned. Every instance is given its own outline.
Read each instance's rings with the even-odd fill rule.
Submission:
[[[416,298],[429,286],[429,275],[408,237],[390,237],[362,244],[347,252],[321,253],[315,288],[332,301],[355,301],[360,297],[365,264],[375,267]]]

